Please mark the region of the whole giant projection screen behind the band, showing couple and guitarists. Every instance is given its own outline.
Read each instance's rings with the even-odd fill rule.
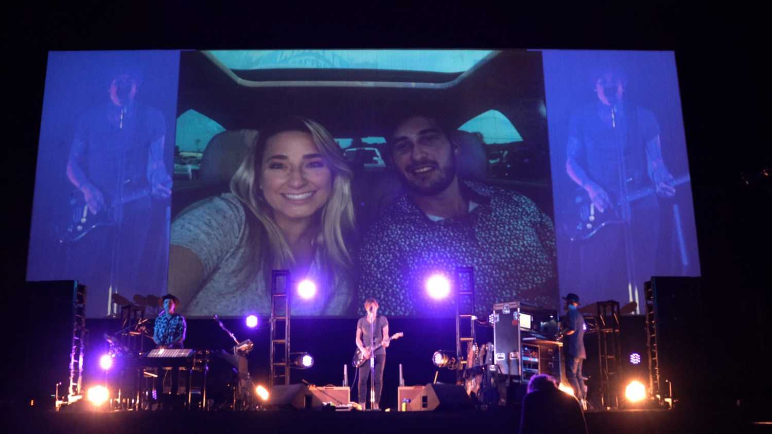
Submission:
[[[672,52],[51,52],[35,194],[27,277],[90,317],[452,317],[474,288],[484,318],[699,274]]]

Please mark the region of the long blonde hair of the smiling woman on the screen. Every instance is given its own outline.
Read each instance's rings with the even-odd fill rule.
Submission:
[[[351,201],[352,172],[340,146],[319,123],[300,116],[291,116],[269,124],[259,130],[255,146],[251,146],[244,160],[231,178],[231,191],[251,212],[245,212],[247,227],[242,240],[249,254],[245,255],[242,270],[254,277],[262,265],[263,271],[291,268],[295,257],[286,237],[273,220],[273,209],[259,189],[262,156],[270,137],[285,131],[310,133],[313,143],[330,167],[333,187],[327,204],[317,212],[319,232],[314,237],[314,247],[320,249],[327,271],[350,269],[352,255],[346,246],[347,238],[354,232],[354,205]],[[245,210],[246,211],[246,210]],[[331,268],[331,269],[330,269]],[[266,274],[268,278],[269,273]]]

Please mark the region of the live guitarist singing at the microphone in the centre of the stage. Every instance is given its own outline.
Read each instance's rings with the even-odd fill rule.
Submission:
[[[371,409],[377,410],[378,402],[381,401],[384,365],[386,364],[386,348],[389,344],[388,319],[386,319],[386,317],[383,315],[378,315],[378,301],[376,301],[374,298],[367,298],[367,300],[364,301],[364,311],[366,312],[366,315],[364,315],[362,318],[359,318],[359,321],[357,321],[356,342],[357,348],[359,348],[359,351],[362,353],[364,358],[368,359],[368,361],[364,362],[358,368],[359,370],[357,375],[359,375],[359,377],[357,381],[357,387],[359,392],[359,405],[361,405],[362,409],[364,409],[368,398],[367,382],[370,380],[371,372],[371,363],[369,362],[369,359],[371,358],[371,342],[374,346],[378,346],[380,344],[381,348],[377,348],[374,352],[375,369],[372,381],[373,389],[371,390],[371,393],[374,394],[374,400],[371,401]],[[371,329],[373,330],[372,340]],[[369,398],[373,397],[370,396]]]

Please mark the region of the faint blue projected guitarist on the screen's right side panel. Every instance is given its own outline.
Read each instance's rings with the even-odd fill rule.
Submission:
[[[617,214],[628,224],[603,227],[579,244],[578,289],[594,288],[602,301],[637,301],[635,287],[655,274],[657,197],[675,196],[673,177],[662,160],[654,114],[625,99],[625,73],[601,68],[591,83],[597,98],[571,116],[566,171],[587,192],[594,214]],[[645,187],[656,194],[615,206],[623,192]]]

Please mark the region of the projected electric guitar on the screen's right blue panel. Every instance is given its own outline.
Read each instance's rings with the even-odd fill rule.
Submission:
[[[672,187],[678,187],[684,183],[689,183],[689,175],[675,178],[670,185]],[[625,219],[621,217],[621,210],[623,207],[629,204],[635,203],[637,200],[641,200],[644,197],[649,197],[656,193],[655,187],[646,187],[640,190],[635,190],[628,193],[628,197],[611,198],[612,207],[608,207],[604,212],[595,208],[592,203],[589,194],[584,189],[577,189],[576,193],[572,197],[571,204],[568,204],[568,216],[567,223],[564,224],[564,230],[571,241],[584,241],[592,237],[594,234],[611,224],[625,223]]]

